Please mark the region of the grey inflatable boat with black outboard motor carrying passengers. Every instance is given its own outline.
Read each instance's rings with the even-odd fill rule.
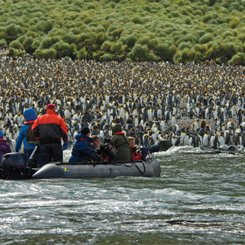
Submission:
[[[0,164],[2,179],[112,178],[118,176],[160,177],[158,160],[152,156],[137,162],[48,163],[30,168],[21,153],[5,154]]]

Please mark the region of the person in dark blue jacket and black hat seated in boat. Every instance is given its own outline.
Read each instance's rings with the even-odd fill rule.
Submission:
[[[89,137],[89,128],[83,128],[76,136],[72,148],[70,163],[88,163],[101,161],[95,152],[93,140]]]

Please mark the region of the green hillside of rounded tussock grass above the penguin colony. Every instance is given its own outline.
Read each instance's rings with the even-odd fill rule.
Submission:
[[[245,0],[0,0],[0,46],[37,58],[245,64]]]

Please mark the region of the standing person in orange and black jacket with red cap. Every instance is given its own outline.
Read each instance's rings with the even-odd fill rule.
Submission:
[[[40,144],[39,166],[52,161],[63,162],[63,150],[68,148],[68,127],[64,119],[56,113],[54,104],[47,105],[46,113],[34,121],[32,130]]]

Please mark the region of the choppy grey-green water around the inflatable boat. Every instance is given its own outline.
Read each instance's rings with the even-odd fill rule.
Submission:
[[[186,153],[160,178],[0,180],[0,244],[245,244],[245,156]]]

